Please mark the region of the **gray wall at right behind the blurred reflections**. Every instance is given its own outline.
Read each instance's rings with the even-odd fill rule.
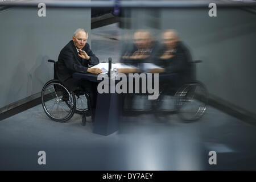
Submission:
[[[162,29],[175,28],[190,48],[197,78],[209,92],[256,114],[256,16],[241,9],[164,10]]]

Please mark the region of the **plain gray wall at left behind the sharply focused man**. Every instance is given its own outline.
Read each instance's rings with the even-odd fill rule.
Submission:
[[[76,28],[90,35],[90,9],[11,8],[0,13],[0,108],[41,92]],[[89,37],[90,39],[90,37]],[[90,40],[89,40],[90,43]]]

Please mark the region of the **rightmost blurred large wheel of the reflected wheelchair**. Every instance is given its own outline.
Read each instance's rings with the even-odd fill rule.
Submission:
[[[176,109],[184,121],[200,119],[207,109],[208,91],[201,82],[189,82],[175,93]]]

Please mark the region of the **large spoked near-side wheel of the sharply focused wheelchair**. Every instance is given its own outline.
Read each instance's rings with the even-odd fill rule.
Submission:
[[[75,94],[68,92],[59,80],[50,80],[44,85],[41,100],[44,111],[53,121],[68,121],[75,113]],[[71,107],[67,106],[66,101],[71,103]]]

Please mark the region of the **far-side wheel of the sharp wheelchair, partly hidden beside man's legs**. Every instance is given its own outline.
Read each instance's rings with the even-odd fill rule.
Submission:
[[[88,109],[88,100],[87,97],[85,96],[85,94],[79,94],[79,96],[77,96],[77,94],[75,94],[76,97],[76,110],[75,113],[77,114],[82,114],[85,111],[89,110]],[[68,107],[71,107],[71,102],[70,101],[65,101]]]

